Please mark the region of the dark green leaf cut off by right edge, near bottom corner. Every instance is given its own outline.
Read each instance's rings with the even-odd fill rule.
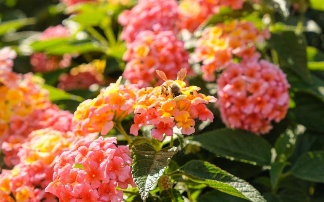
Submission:
[[[298,178],[324,183],[324,151],[307,152],[301,155],[291,172]]]

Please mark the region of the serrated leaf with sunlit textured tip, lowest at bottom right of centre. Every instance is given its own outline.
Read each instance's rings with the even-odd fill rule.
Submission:
[[[252,202],[266,202],[260,192],[249,183],[208,162],[191,160],[180,167],[179,172],[193,182],[205,184],[221,192]]]

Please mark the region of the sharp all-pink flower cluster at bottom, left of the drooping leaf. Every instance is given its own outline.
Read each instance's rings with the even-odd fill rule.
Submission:
[[[94,142],[82,138],[63,152],[54,165],[53,182],[45,189],[60,201],[122,201],[131,177],[128,146],[116,146],[115,137]]]

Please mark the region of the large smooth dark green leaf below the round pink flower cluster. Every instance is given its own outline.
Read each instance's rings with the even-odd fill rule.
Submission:
[[[270,165],[271,144],[253,133],[223,128],[196,135],[193,141],[221,157],[254,165]]]

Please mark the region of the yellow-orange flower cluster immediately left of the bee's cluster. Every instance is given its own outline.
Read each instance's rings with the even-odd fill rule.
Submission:
[[[121,80],[121,79],[120,79]],[[106,135],[114,126],[134,111],[137,85],[110,83],[94,98],[82,102],[74,113],[72,123],[77,135],[101,132]]]

